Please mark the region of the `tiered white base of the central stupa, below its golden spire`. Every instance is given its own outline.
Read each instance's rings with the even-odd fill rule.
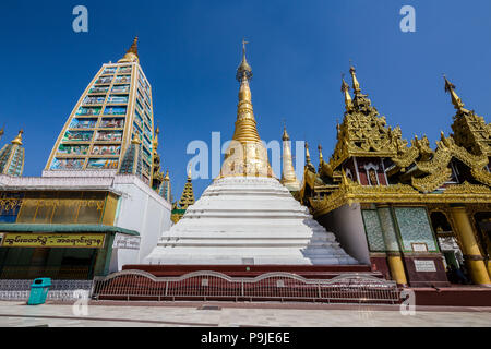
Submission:
[[[255,177],[215,180],[145,262],[358,264],[276,179]]]

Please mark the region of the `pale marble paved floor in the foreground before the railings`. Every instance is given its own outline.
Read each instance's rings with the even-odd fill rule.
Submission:
[[[349,309],[285,309],[255,304],[244,308],[223,306],[121,306],[89,305],[88,314],[73,314],[69,304],[25,305],[0,301],[0,326],[124,327],[124,326],[279,326],[279,327],[385,327],[385,326],[491,326],[491,309],[417,310],[414,316],[397,310],[369,306]]]

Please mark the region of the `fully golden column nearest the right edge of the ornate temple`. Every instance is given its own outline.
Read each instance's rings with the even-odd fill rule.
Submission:
[[[491,286],[488,269],[484,265],[484,258],[481,255],[476,237],[474,236],[472,225],[470,224],[465,207],[451,207],[451,213],[472,281],[477,285]]]

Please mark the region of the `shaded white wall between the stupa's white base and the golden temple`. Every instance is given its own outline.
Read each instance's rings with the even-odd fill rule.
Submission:
[[[370,265],[360,204],[344,205],[319,218],[319,222],[334,232],[342,248],[360,263]]]

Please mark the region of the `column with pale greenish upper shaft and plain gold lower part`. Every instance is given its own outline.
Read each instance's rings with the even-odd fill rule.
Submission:
[[[384,237],[385,249],[387,251],[388,268],[393,279],[398,285],[407,285],[406,272],[400,256],[399,243],[397,242],[396,230],[392,218],[391,207],[378,206],[380,226]]]

